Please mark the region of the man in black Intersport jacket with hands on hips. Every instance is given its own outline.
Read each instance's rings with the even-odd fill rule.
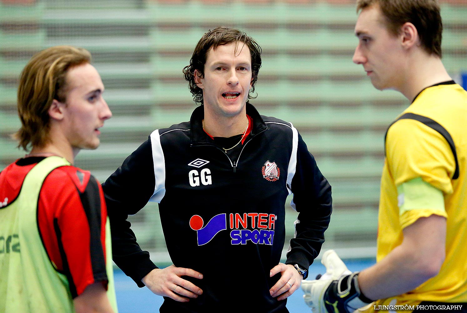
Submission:
[[[113,260],[164,297],[160,312],[288,312],[324,242],[331,186],[292,124],[262,116],[253,98],[261,48],[237,29],[199,40],[184,68],[196,108],[154,131],[103,184]],[[287,260],[285,201],[299,212]],[[128,214],[159,203],[173,265],[136,243]]]

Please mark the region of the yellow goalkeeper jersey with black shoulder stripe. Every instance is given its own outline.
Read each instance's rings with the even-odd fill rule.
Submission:
[[[439,274],[415,290],[374,304],[467,302],[467,92],[453,81],[427,87],[401,116],[386,137],[377,261],[402,243],[404,227],[432,214],[447,220],[446,259]],[[399,212],[397,186],[416,178],[443,192],[446,212]]]

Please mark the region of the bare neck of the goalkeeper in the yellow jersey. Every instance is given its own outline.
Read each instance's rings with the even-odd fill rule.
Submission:
[[[426,87],[452,80],[441,59],[437,56],[415,56],[407,62],[405,77],[400,92],[412,102]]]

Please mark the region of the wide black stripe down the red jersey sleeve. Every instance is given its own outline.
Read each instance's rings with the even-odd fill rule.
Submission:
[[[78,190],[78,193],[89,224],[92,274],[96,281],[100,281],[106,276],[106,259],[100,241],[101,207],[96,179],[91,175],[85,191],[80,193]]]

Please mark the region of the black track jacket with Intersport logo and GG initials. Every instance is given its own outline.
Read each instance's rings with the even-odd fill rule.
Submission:
[[[290,193],[299,214],[286,263],[308,269],[319,254],[331,186],[292,124],[260,116],[249,103],[247,114],[253,127],[236,160],[206,135],[200,106],[190,122],[151,133],[103,184],[113,260],[127,276],[143,286],[156,268],[126,220],[148,201],[159,203],[175,266],[204,275],[184,277],[202,295],[187,303],[164,298],[160,312],[288,312],[286,300],[269,295],[280,278],[269,271],[280,262]]]

